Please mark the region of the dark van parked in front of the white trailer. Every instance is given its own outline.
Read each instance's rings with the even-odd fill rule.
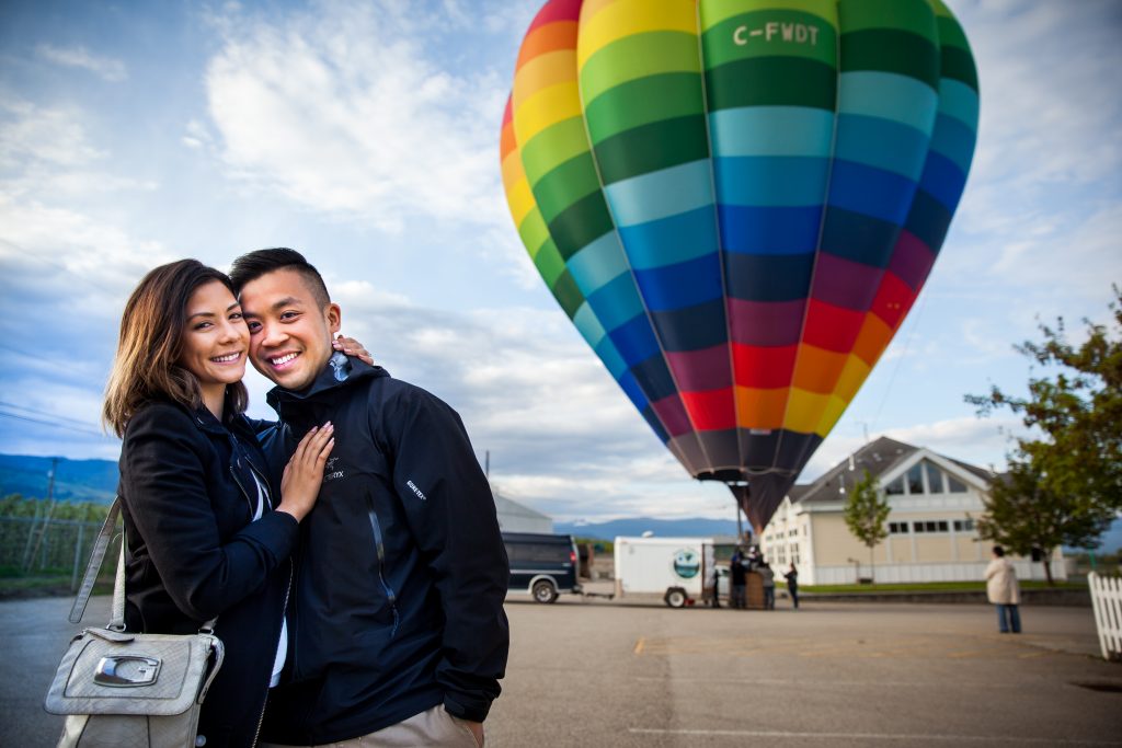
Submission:
[[[503,543],[511,560],[511,592],[527,592],[536,602],[553,602],[560,592],[580,592],[571,535],[503,533]]]

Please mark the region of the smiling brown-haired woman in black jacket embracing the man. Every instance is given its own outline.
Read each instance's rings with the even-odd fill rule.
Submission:
[[[249,330],[229,278],[196,260],[154,269],[125,307],[103,418],[122,437],[129,630],[191,634],[218,618],[226,661],[200,745],[250,746],[284,664],[288,555],[333,445],[313,428],[279,500],[242,412]]]

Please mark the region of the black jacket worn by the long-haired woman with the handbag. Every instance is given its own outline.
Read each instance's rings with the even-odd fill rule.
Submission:
[[[224,424],[203,407],[140,408],[125,431],[118,487],[128,630],[194,634],[218,616],[226,661],[200,718],[208,748],[254,745],[297,533],[292,515],[268,507],[250,521],[251,471],[264,480],[265,458],[246,418],[227,406]]]

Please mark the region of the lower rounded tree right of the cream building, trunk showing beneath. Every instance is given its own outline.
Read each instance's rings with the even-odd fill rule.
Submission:
[[[983,502],[978,536],[1022,556],[1038,551],[1049,585],[1052,552],[1061,545],[1093,547],[1114,517],[1109,507],[1054,493],[1037,463],[1026,455],[1010,458],[1009,472],[993,481]]]

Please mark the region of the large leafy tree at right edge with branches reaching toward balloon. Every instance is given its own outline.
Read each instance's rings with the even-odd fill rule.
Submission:
[[[978,415],[1009,408],[1038,435],[1015,440],[1010,474],[994,483],[995,539],[1036,536],[1041,550],[1091,547],[1122,509],[1122,290],[1113,290],[1112,329],[1084,320],[1086,339],[1075,345],[1060,317],[1055,327],[1040,325],[1042,342],[1014,347],[1045,369],[1030,375],[1027,397],[996,386],[966,396]],[[1047,564],[1046,571],[1050,579]]]

